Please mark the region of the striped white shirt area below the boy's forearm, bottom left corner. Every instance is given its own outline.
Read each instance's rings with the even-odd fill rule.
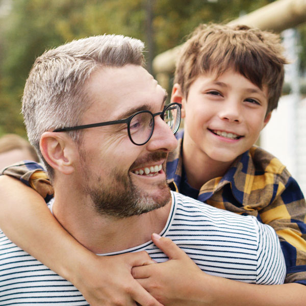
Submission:
[[[38,300],[49,305],[88,305],[77,288],[14,244],[1,229],[0,266],[1,305],[16,300],[24,305]],[[39,287],[44,290],[35,290]]]

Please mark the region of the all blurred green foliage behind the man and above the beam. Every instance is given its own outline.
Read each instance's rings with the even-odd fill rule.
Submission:
[[[0,0],[1,2],[1,0]],[[35,58],[66,41],[123,34],[148,42],[146,7],[152,10],[153,57],[183,42],[201,22],[225,22],[272,0],[12,0],[0,19],[0,134],[25,135],[20,98]]]

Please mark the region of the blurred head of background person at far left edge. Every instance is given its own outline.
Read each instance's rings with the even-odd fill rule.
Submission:
[[[0,137],[0,169],[21,160],[39,162],[33,146],[16,134],[6,134]]]

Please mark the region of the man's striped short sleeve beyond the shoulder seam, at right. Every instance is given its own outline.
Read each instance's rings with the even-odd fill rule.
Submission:
[[[284,284],[286,264],[278,237],[272,227],[257,222],[258,261],[257,284]]]

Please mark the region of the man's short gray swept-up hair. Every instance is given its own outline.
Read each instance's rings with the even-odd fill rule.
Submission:
[[[38,57],[25,83],[22,114],[30,143],[44,161],[43,132],[78,125],[90,107],[85,82],[102,67],[144,65],[142,41],[122,35],[100,35],[61,45]],[[78,132],[69,132],[77,140]],[[45,166],[51,176],[53,169]]]

